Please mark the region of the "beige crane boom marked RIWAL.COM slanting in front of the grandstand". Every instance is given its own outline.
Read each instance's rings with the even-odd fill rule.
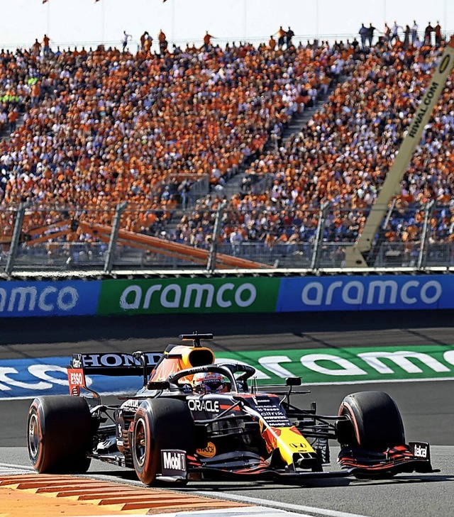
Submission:
[[[433,110],[441,96],[449,74],[454,67],[454,36],[446,45],[440,62],[436,67],[428,88],[424,92],[409,129],[402,140],[394,163],[384,179],[380,194],[375,199],[365,222],[362,233],[353,246],[345,250],[345,267],[367,267],[365,255],[372,250],[372,243],[388,210],[389,201],[399,193],[400,182],[404,177],[416,145],[419,144],[423,129],[431,118]]]

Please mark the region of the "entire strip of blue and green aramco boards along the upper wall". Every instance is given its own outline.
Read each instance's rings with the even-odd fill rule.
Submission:
[[[0,281],[0,318],[454,308],[454,275]]]

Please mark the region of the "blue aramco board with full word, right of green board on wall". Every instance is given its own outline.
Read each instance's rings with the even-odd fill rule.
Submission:
[[[282,278],[276,312],[454,308],[454,275]]]

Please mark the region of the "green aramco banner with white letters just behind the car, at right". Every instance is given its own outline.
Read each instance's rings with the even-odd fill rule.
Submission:
[[[258,384],[283,384],[286,377],[301,377],[303,384],[454,379],[454,346],[448,345],[248,350],[216,354],[219,360],[255,367]]]

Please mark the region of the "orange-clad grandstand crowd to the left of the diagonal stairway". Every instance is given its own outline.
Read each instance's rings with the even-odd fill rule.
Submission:
[[[128,201],[149,212],[123,221],[135,231],[155,211],[169,217],[175,208],[178,185],[169,194],[167,177],[206,174],[212,186],[225,182],[311,102],[308,91],[326,88],[336,61],[328,49],[283,53],[251,45],[0,58],[1,87],[21,87],[25,109],[23,125],[0,144],[1,206],[31,200],[79,209],[79,217],[81,209],[96,211],[82,216],[109,223],[111,209]],[[26,224],[49,217],[41,211]]]

